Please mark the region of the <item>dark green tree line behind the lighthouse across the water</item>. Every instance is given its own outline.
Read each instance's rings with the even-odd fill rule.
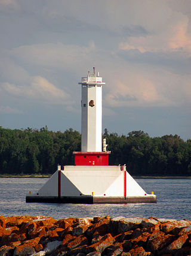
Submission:
[[[110,165],[127,164],[134,176],[191,176],[191,140],[178,135],[149,137],[144,131],[127,135],[109,133]],[[51,174],[57,164],[73,165],[73,151],[81,151],[81,134],[72,128],[64,132],[0,127],[1,174]]]

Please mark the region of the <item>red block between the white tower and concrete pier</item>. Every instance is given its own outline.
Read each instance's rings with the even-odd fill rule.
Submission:
[[[75,165],[109,165],[109,154],[107,152],[73,152],[75,154]]]

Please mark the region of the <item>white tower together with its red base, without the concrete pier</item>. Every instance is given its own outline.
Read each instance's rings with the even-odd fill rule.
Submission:
[[[81,152],[75,154],[75,165],[108,165],[110,151],[106,151],[106,140],[102,146],[102,86],[105,83],[100,73],[88,72],[82,77],[81,100]]]

